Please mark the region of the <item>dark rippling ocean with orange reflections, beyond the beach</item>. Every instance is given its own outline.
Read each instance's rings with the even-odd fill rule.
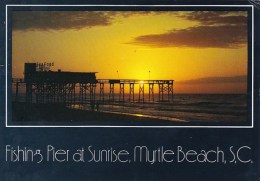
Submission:
[[[118,98],[115,97],[115,100]],[[76,104],[72,108],[91,110],[89,104]],[[99,111],[179,122],[232,122],[248,119],[247,95],[244,94],[175,94],[171,103],[100,102]]]

